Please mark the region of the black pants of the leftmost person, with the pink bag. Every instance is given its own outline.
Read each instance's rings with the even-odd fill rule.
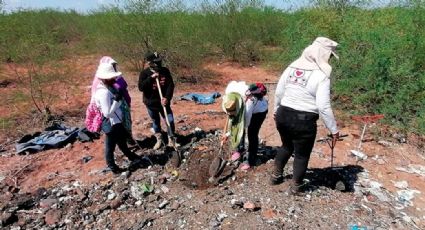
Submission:
[[[127,146],[127,138],[129,134],[125,130],[124,126],[121,123],[115,124],[112,126],[111,132],[106,134],[105,138],[105,160],[108,167],[113,168],[117,167],[114,160],[114,150],[116,145],[124,153],[124,155],[131,161],[138,158],[138,156],[130,151]]]

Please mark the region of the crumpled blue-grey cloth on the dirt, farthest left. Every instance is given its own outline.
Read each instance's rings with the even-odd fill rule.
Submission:
[[[54,124],[43,132],[22,137],[16,144],[18,154],[24,151],[37,152],[49,148],[60,148],[72,143],[78,136],[78,128],[68,128],[62,124]]]

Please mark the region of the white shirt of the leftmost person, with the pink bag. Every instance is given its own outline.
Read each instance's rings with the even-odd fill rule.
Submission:
[[[95,93],[96,106],[100,108],[103,116],[109,118],[111,125],[121,123],[122,112],[119,109],[121,101],[113,100],[112,93],[105,87],[103,83],[99,83]]]

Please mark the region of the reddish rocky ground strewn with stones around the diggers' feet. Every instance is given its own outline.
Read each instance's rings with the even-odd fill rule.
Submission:
[[[94,68],[94,67],[93,67]],[[186,92],[223,92],[228,80],[269,82],[270,96],[277,73],[234,64],[207,65],[217,79],[207,84],[178,86]],[[90,69],[87,67],[87,69]],[[133,108],[143,108],[129,75]],[[84,81],[89,84],[90,79]],[[218,84],[217,82],[221,82]],[[81,86],[83,87],[83,86]],[[85,85],[84,85],[85,87]],[[86,95],[88,98],[88,95]],[[272,96],[270,97],[272,100]],[[272,101],[271,101],[272,102]],[[270,103],[272,104],[272,103]],[[104,169],[103,138],[76,142],[63,149],[15,155],[13,145],[0,154],[0,227],[4,229],[424,229],[425,158],[410,136],[388,135],[378,124],[368,130],[361,151],[352,155],[362,125],[337,113],[348,136],[330,150],[317,142],[301,196],[287,192],[292,162],[284,183],[269,185],[273,156],[280,145],[271,114],[260,132],[257,167],[248,172],[227,165],[209,182],[209,164],[219,147],[225,116],[220,100],[197,105],[175,99],[174,113],[180,152],[172,167],[172,149],[151,150],[153,137],[144,109],[134,109],[134,134],[140,155],[151,163],[135,172],[114,176]],[[341,117],[341,119],[340,119]],[[319,123],[318,139],[326,130]],[[119,152],[117,162],[128,165]]]

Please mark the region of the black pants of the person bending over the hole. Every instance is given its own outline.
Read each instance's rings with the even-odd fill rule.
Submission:
[[[255,166],[258,151],[258,133],[266,119],[267,111],[252,114],[251,123],[248,126],[248,163]]]

